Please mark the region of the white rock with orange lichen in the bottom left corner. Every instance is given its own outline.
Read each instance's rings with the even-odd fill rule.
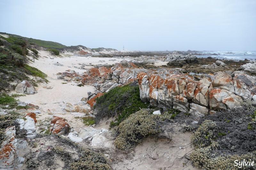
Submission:
[[[0,169],[14,169],[17,164],[17,139],[15,126],[4,131],[5,140],[0,148]]]

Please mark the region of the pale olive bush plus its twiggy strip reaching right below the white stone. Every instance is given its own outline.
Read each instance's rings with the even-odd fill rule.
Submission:
[[[141,109],[131,114],[112,131],[117,136],[114,145],[121,150],[131,150],[135,144],[142,144],[143,137],[159,134],[159,137],[166,137],[164,134],[165,125],[174,122],[173,119],[181,112],[169,109],[162,115],[153,115],[150,109]],[[184,114],[181,114],[184,116]]]

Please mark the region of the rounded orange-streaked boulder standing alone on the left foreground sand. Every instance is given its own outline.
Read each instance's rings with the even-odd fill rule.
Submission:
[[[61,117],[53,116],[50,125],[51,134],[66,135],[69,133],[69,124],[65,119]]]

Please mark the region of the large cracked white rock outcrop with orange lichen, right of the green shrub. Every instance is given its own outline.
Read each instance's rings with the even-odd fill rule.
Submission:
[[[233,109],[243,100],[256,98],[256,78],[249,75],[232,78],[230,74],[218,72],[195,81],[186,74],[140,72],[137,78],[142,101],[164,109],[189,111],[193,115],[208,113],[210,108]]]

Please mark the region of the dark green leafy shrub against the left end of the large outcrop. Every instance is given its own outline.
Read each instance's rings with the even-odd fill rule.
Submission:
[[[96,99],[94,109],[97,112],[96,123],[105,116],[116,116],[112,126],[118,125],[129,115],[137,112],[140,108],[147,108],[148,104],[140,100],[140,89],[138,85],[129,84],[115,87],[109,92]]]

